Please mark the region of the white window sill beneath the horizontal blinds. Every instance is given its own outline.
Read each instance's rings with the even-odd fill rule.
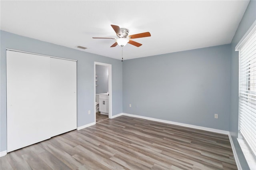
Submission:
[[[247,164],[251,170],[256,170],[256,160],[252,153],[250,152],[250,149],[248,148],[247,144],[244,142],[242,138],[237,138],[237,141],[242,149],[242,152],[244,154],[244,157],[247,161]]]

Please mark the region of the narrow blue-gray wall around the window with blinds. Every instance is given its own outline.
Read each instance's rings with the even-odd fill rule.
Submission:
[[[251,0],[248,4],[246,12],[236,30],[236,34],[231,43],[231,76],[230,76],[230,134],[236,153],[240,160],[243,169],[249,169],[244,158],[242,150],[236,140],[238,137],[238,51],[235,51],[235,46],[250,28],[252,23],[256,20],[256,1]]]

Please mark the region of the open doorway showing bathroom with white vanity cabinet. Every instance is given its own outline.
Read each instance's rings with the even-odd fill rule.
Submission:
[[[95,123],[112,116],[111,65],[94,62]]]

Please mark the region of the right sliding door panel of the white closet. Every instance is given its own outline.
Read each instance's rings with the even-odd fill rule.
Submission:
[[[52,136],[76,129],[76,61],[51,58]]]

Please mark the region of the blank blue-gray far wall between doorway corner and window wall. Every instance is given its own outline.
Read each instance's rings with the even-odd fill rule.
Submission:
[[[230,55],[220,45],[125,60],[123,112],[229,130]]]

